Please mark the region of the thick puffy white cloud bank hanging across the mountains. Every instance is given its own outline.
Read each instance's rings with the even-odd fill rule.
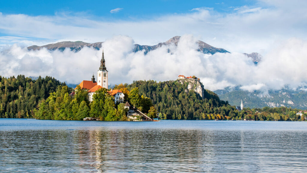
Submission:
[[[115,36],[103,43],[109,83],[131,83],[134,80],[176,80],[179,74],[200,77],[205,88],[222,89],[242,85],[245,90],[292,88],[307,82],[307,42],[289,39],[276,45],[263,55],[255,66],[241,53],[206,55],[196,51],[199,38],[181,37],[178,46],[162,46],[144,55],[132,52],[134,40],[128,36]],[[169,50],[169,52],[168,52]],[[84,47],[79,52],[28,51],[17,45],[0,53],[0,74],[12,76],[46,75],[67,83],[97,78],[102,51]]]

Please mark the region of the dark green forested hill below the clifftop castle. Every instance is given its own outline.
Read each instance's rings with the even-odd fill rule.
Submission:
[[[188,91],[188,82],[134,81],[127,85],[128,89],[135,87],[138,87],[140,95],[152,100],[164,119],[201,119],[207,114],[226,116],[230,111],[237,113],[235,107],[220,100],[214,92],[204,90],[202,99],[196,92]]]

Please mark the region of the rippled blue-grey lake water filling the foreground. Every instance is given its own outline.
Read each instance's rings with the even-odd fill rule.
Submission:
[[[306,172],[307,122],[0,118],[1,172]]]

